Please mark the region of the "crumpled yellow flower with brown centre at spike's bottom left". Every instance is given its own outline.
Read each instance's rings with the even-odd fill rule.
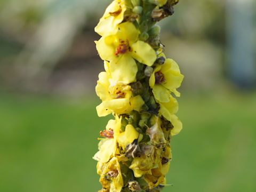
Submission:
[[[111,158],[105,164],[98,162],[97,173],[100,175],[100,182],[104,188],[110,192],[120,192],[122,190],[124,183],[117,157]]]

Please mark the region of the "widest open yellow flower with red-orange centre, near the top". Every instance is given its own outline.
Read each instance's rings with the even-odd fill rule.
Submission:
[[[147,43],[138,41],[139,31],[131,22],[119,25],[115,35],[104,36],[95,41],[102,60],[110,61],[109,70],[114,79],[124,77],[125,83],[135,82],[137,65],[134,59],[148,66],[156,60],[156,52]]]

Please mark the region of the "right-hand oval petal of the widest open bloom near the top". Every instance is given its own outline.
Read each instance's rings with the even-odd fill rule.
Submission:
[[[156,52],[149,44],[137,41],[132,44],[132,57],[147,66],[151,66],[156,60]]]

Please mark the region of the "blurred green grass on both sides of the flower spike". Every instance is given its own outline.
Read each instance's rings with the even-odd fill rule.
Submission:
[[[255,94],[179,99],[167,191],[255,191]],[[97,191],[98,100],[0,95],[0,191]]]

